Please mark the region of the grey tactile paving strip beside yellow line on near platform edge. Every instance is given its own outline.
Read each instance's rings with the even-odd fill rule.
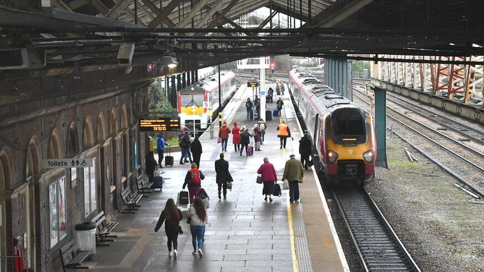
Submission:
[[[304,227],[303,205],[296,202],[291,205],[294,240],[296,244],[296,256],[298,257],[298,267],[300,272],[312,272],[311,254],[307,245],[306,229]]]

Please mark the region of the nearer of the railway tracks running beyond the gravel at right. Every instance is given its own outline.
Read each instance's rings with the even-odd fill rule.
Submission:
[[[354,90],[363,94],[359,88],[354,88]],[[370,105],[370,103],[366,101],[366,98],[359,96],[355,92],[353,95],[361,100],[367,107]],[[404,114],[389,106],[387,106],[387,109],[390,109],[392,112],[396,112],[399,118],[413,122],[413,124],[409,124],[387,113],[387,117],[393,120],[397,126],[403,127],[405,130],[409,131],[409,134],[412,138],[412,142],[406,140],[409,142],[409,144],[422,150],[421,152],[423,152],[426,157],[440,165],[447,172],[469,187],[472,191],[481,197],[484,197],[484,191],[482,189],[484,188],[484,181],[482,179],[482,175],[484,174],[483,153],[470,146],[460,143],[458,140],[423,124],[407,114]],[[419,127],[419,129],[416,129],[416,126]],[[438,140],[433,139],[431,136],[429,136],[430,134],[423,132],[425,130],[430,134],[438,135],[440,138],[438,138]],[[401,135],[399,136],[401,137]],[[428,143],[430,143],[430,146]],[[424,146],[423,149],[425,151],[422,148],[419,148],[419,146]],[[442,150],[444,153],[450,154],[451,156],[442,156]],[[442,160],[442,162],[436,160],[435,158],[439,158],[439,160]]]

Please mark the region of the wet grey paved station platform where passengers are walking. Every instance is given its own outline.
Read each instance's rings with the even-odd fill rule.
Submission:
[[[254,121],[246,120],[244,102],[251,97],[251,90],[241,87],[223,111],[223,119],[232,126],[251,127]],[[215,182],[214,161],[221,152],[216,137],[209,133],[200,137],[203,154],[200,170],[204,173],[202,187],[210,197],[209,225],[205,231],[204,256],[194,257],[189,226],[182,220],[183,235],[179,236],[179,258],[168,256],[164,227],[153,231],[156,221],[168,198],[176,199],[181,190],[189,164],[180,165],[180,152],[173,153],[174,167],[163,168],[163,191],[149,194],[140,202],[136,214],[119,214],[119,237],[110,247],[97,247],[97,254],[87,264],[90,272],[107,271],[349,271],[346,259],[324,196],[313,169],[305,171],[301,184],[301,201],[289,204],[289,191],[283,191],[274,202],[264,201],[262,185],[255,182],[256,170],[268,157],[276,168],[282,183],[284,164],[291,154],[299,159],[301,127],[295,118],[288,93],[284,97],[284,118],[291,129],[294,141],[288,139],[287,148],[279,149],[276,127],[279,117],[266,122],[267,133],[262,151],[253,157],[234,152],[232,137],[229,139],[225,159],[230,163],[234,178],[233,190],[227,200],[219,201]],[[275,109],[275,103],[267,104]],[[218,121],[215,122],[215,135]],[[156,156],[156,155],[155,155]],[[281,184],[282,187],[282,184]],[[183,214],[186,207],[181,208]]]

